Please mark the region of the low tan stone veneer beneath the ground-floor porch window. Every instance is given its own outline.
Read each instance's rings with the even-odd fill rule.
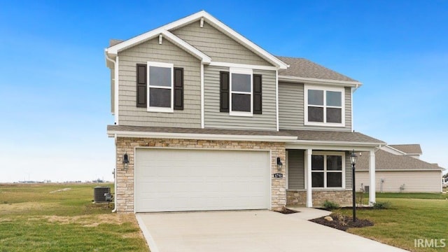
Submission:
[[[313,207],[321,207],[325,200],[336,202],[341,206],[351,205],[351,190],[315,190],[312,192]],[[286,204],[288,205],[306,205],[306,190],[287,190]]]

